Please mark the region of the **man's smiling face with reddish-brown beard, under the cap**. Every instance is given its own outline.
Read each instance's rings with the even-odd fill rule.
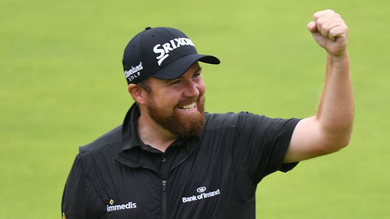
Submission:
[[[198,63],[178,79],[150,78],[148,85],[151,92],[147,94],[145,107],[156,124],[181,137],[202,131],[206,88]]]

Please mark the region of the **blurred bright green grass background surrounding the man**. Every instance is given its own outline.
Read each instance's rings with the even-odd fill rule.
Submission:
[[[257,218],[388,218],[388,1],[15,1],[0,6],[0,218],[60,218],[78,146],[133,100],[121,59],[146,26],[183,30],[200,53],[209,112],[309,117],[326,53],[306,24],[331,8],[349,26],[350,145],[267,176]]]

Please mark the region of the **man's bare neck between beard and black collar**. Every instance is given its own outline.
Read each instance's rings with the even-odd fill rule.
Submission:
[[[177,136],[156,124],[147,113],[141,113],[138,118],[138,135],[145,144],[149,144],[161,152],[165,152]]]

